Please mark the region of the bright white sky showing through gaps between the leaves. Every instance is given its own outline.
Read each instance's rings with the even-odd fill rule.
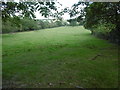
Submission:
[[[59,10],[64,9],[65,7],[69,7],[70,8],[73,4],[77,3],[78,1],[79,0],[57,0],[57,2],[59,2],[60,4],[62,4],[62,6],[59,5],[60,6]],[[36,15],[36,19],[45,19],[43,16],[40,15],[39,12],[36,12],[35,15]],[[66,19],[70,19],[70,16],[67,13],[64,14],[62,17],[65,20]],[[51,19],[51,17],[49,17],[49,19]]]

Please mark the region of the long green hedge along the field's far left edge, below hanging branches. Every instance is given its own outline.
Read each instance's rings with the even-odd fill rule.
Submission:
[[[22,32],[30,30],[39,30],[68,25],[66,21],[34,20],[28,17],[20,19],[19,17],[9,18],[2,22],[3,33]]]

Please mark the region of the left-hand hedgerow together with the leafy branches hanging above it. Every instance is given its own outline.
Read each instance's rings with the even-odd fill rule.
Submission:
[[[58,16],[60,12],[57,11],[55,2],[2,2],[1,11],[2,33],[38,30],[68,24]],[[54,17],[57,21],[36,20],[36,11],[46,18]]]

